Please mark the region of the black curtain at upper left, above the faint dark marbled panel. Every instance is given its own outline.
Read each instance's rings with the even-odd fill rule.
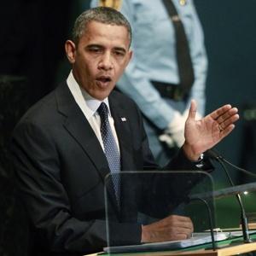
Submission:
[[[0,5],[0,74],[26,77],[31,104],[55,86],[71,3],[9,0]]]

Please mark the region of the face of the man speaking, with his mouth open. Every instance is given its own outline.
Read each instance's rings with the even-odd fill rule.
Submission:
[[[102,101],[113,90],[131,59],[125,26],[90,21],[78,45],[65,44],[73,76],[90,96]]]

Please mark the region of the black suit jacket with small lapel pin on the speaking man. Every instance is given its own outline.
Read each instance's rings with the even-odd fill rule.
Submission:
[[[116,91],[109,96],[109,104],[122,171],[157,169],[136,104]],[[66,83],[26,113],[15,128],[12,144],[17,184],[38,250],[101,251],[107,243],[104,178],[108,162]],[[192,167],[180,152],[166,168]],[[141,241],[141,226],[129,224],[129,218],[121,223],[114,197],[110,201],[114,244]]]

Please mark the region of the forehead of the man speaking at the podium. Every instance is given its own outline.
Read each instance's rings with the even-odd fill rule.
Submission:
[[[120,44],[119,46],[129,48],[129,32],[125,26],[105,24],[90,21],[85,27],[80,42],[86,44]]]

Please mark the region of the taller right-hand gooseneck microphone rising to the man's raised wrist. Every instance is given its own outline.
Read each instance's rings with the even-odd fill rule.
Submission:
[[[224,160],[224,157],[222,155],[218,154],[218,152],[216,150],[213,150],[213,149],[207,150],[206,155],[209,158],[212,158],[213,160],[217,160],[218,161],[218,163],[224,168],[224,172],[226,173],[226,175],[227,175],[227,177],[228,177],[228,179],[230,181],[230,185],[232,187],[234,187],[235,184],[233,183],[232,178],[230,177],[230,173],[228,172],[226,166],[224,165],[224,162],[228,162],[228,161]],[[228,163],[230,163],[230,162],[228,162]],[[232,165],[232,166],[234,166],[234,165]],[[240,169],[241,168],[239,168],[238,170],[240,170]],[[244,171],[246,171],[246,170],[244,170]],[[251,238],[249,236],[247,216],[246,216],[246,212],[245,212],[245,209],[244,209],[242,201],[241,201],[240,194],[236,194],[236,199],[237,199],[237,201],[239,203],[240,211],[241,211],[241,230],[242,230],[242,235],[243,235],[243,241],[245,243],[250,243],[250,242],[252,242],[252,240],[251,240]]]

